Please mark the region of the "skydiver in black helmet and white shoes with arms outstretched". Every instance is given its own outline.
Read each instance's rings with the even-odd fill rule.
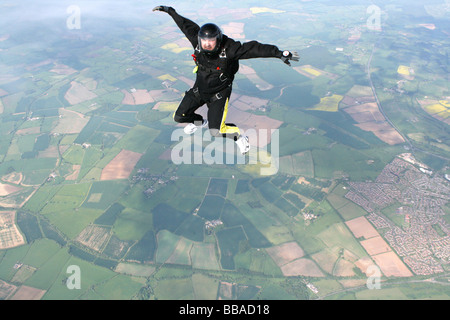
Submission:
[[[186,91],[174,113],[174,120],[188,123],[184,128],[186,134],[209,126],[212,136],[233,139],[240,152],[246,154],[250,150],[248,137],[241,135],[236,125],[225,122],[234,75],[239,69],[239,60],[279,58],[290,66],[290,60],[299,61],[298,53],[282,51],[274,45],[257,41],[241,44],[224,35],[216,24],[206,23],[200,27],[179,15],[172,7],[157,6],[153,11],[168,13],[194,47],[192,56],[196,64],[194,69],[197,74],[196,81],[194,86]],[[204,104],[208,107],[207,120],[195,113]]]

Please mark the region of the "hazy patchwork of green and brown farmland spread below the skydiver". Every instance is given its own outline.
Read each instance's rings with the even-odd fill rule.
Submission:
[[[219,8],[208,19],[236,40],[299,53],[291,68],[273,58],[242,60],[233,82],[230,119],[278,130],[267,150],[279,166],[264,175],[249,157],[175,164],[172,135],[182,125],[173,109],[195,80],[189,43],[149,4],[99,3],[106,11],[96,17],[84,2],[81,29],[66,28],[64,14],[18,23],[39,10],[64,13],[65,4],[0,5],[0,232],[24,239],[0,247],[0,300],[24,287],[43,300],[448,300],[442,4],[377,2],[381,26],[373,30],[369,4],[357,2],[286,2],[275,10],[267,1],[225,8],[212,0],[195,9],[175,1],[197,21]],[[391,143],[396,133],[406,140]],[[205,151],[207,142],[192,144]],[[127,178],[104,180],[122,150],[141,157],[133,166],[116,163]],[[402,153],[417,162],[396,166]],[[410,166],[415,171],[405,171]],[[377,204],[390,194],[364,193],[374,184],[398,194]],[[15,220],[3,221],[9,211]],[[433,223],[414,225],[424,212]],[[383,274],[382,288],[368,290],[365,268],[380,256],[346,224],[359,217],[411,277]],[[435,238],[411,259],[391,243],[406,235],[408,245]],[[411,266],[423,255],[433,271]],[[323,276],[309,276],[304,261]],[[66,285],[73,265],[82,273],[77,290]]]

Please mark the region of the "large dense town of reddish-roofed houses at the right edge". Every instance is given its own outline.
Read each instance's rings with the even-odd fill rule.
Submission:
[[[419,166],[420,167],[420,166]],[[421,168],[421,167],[420,167]],[[364,208],[366,217],[416,275],[444,272],[450,260],[450,226],[444,206],[450,186],[444,177],[429,175],[411,162],[395,158],[375,182],[349,182],[346,198]],[[395,206],[401,226],[381,211]]]

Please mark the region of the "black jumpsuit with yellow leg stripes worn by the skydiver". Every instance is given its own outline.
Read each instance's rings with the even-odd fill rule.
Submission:
[[[199,50],[200,27],[195,22],[180,16],[173,8],[170,8],[168,13],[194,47],[195,59],[199,66],[195,84],[183,97],[175,111],[174,120],[180,123],[203,121],[203,117],[195,111],[206,103],[211,135],[236,140],[240,135],[239,128],[225,123],[225,120],[234,75],[239,69],[239,60],[281,58],[282,51],[274,45],[261,44],[257,41],[241,44],[223,35],[218,53],[206,54]]]

